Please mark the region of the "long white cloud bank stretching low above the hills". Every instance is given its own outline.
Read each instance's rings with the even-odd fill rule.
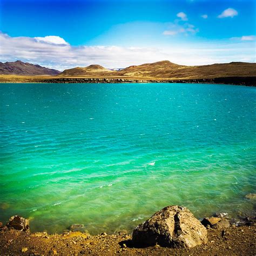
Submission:
[[[186,29],[193,30],[193,25]],[[185,30],[185,29],[184,29]],[[64,40],[64,39],[63,39]],[[253,62],[254,42],[239,41],[238,44],[179,44],[160,48],[137,48],[120,46],[73,46],[55,44],[32,37],[10,37],[0,32],[0,61],[39,64],[48,68],[64,70],[90,64],[106,68],[125,68],[130,65],[169,59],[183,65],[203,65],[232,61]]]

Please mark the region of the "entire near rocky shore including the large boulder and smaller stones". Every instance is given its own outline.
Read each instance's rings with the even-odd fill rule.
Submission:
[[[254,221],[235,226],[221,214],[199,221],[186,207],[168,206],[132,234],[49,235],[30,233],[29,221],[13,216],[1,227],[0,248],[1,255],[255,255]]]

